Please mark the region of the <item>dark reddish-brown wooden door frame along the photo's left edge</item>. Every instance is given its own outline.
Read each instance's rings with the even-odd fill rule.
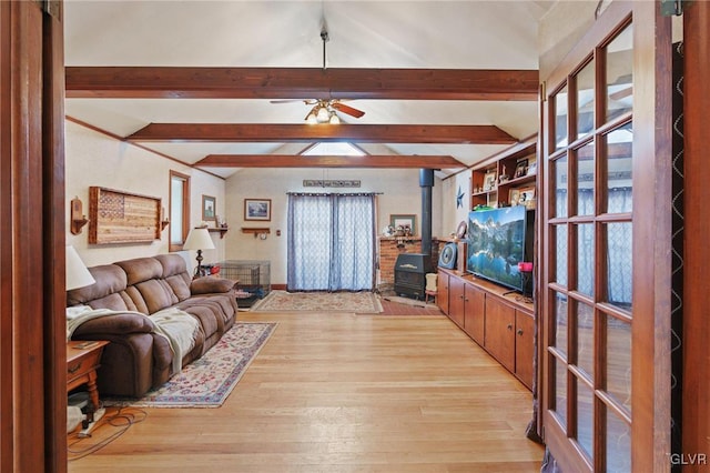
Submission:
[[[62,7],[0,2],[2,473],[67,471]]]

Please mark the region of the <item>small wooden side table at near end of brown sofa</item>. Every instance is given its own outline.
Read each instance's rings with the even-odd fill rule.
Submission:
[[[67,342],[67,392],[87,384],[94,410],[99,409],[97,369],[100,365],[103,348],[108,344],[109,342],[103,340]]]

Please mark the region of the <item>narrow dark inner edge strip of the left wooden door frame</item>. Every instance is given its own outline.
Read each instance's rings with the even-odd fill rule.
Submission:
[[[67,471],[67,292],[64,192],[63,4],[43,16],[42,215],[44,286],[44,457],[47,472]]]

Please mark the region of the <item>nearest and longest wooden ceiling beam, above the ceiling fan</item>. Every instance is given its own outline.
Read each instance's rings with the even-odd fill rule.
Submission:
[[[67,98],[537,100],[537,70],[67,67]]]

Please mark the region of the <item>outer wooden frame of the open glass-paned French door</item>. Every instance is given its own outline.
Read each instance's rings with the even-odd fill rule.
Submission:
[[[633,471],[669,471],[670,453],[670,298],[671,298],[671,21],[660,16],[659,2],[613,1],[589,28],[561,63],[545,78],[545,84],[555,88],[574,71],[584,59],[632,16],[633,24],[633,154],[652,157],[635,159],[633,164],[633,314],[632,324],[632,425],[631,461]],[[548,92],[549,93],[549,92]],[[544,123],[552,118],[546,111]],[[541,133],[544,149],[541,169],[545,190],[549,179],[547,157],[550,154],[549,133]],[[541,168],[542,167],[542,168]],[[549,195],[541,193],[547,201]],[[652,197],[652,199],[646,199]],[[546,203],[541,205],[546,208]],[[639,217],[642,215],[642,217]],[[540,219],[540,261],[549,261],[546,248],[550,234]],[[657,238],[667,235],[666,238]],[[546,312],[551,301],[547,290],[550,269],[540,272],[541,338],[540,351],[546,352],[555,328]],[[541,410],[548,406],[551,373],[547,356],[542,360]],[[565,439],[550,435],[546,441],[564,471],[576,470],[576,454]],[[570,445],[569,447],[566,445]],[[588,466],[589,467],[589,466]]]

